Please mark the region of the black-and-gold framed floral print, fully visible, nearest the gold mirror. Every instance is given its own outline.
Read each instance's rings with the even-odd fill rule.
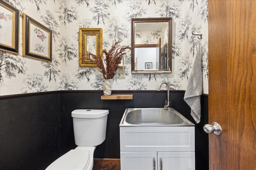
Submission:
[[[22,55],[52,62],[52,30],[22,15]]]

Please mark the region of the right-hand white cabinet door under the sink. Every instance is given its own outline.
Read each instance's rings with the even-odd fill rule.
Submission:
[[[158,170],[195,170],[195,152],[158,152]]]

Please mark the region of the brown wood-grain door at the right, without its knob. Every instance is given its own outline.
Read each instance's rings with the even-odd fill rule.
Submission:
[[[210,170],[256,170],[256,0],[209,0]]]

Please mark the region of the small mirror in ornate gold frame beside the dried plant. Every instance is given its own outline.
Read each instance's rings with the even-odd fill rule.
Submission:
[[[97,64],[85,58],[90,54],[102,54],[102,28],[79,28],[79,66],[95,67]]]

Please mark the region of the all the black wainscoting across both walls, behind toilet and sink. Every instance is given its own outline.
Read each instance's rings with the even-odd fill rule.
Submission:
[[[166,91],[113,91],[133,94],[133,100],[100,100],[102,90],[57,91],[0,96],[0,169],[39,170],[74,149],[71,111],[108,109],[106,140],[96,147],[94,158],[120,158],[119,123],[126,108],[163,107]],[[170,106],[195,123],[184,91],[170,91]],[[203,95],[202,118],[196,124],[196,170],[208,169],[208,96]]]

